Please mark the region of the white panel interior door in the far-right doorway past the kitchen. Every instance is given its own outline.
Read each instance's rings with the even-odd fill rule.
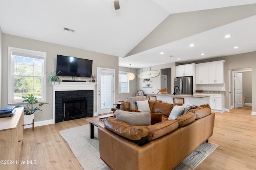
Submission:
[[[242,107],[242,99],[243,99],[243,74],[239,72],[235,72],[234,76],[234,91],[235,91],[235,108]]]

